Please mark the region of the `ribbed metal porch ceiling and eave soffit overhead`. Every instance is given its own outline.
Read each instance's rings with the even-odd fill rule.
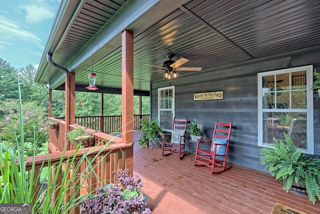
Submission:
[[[116,2],[86,1],[56,48],[53,60],[67,65],[125,1]],[[205,72],[222,65],[320,45],[319,7],[317,0],[193,0],[173,8],[160,21],[134,35],[134,89],[149,90],[150,81],[163,79],[163,71],[142,63],[161,66],[168,53],[175,54],[173,60],[188,59],[183,67],[202,67]],[[93,64],[96,85],[121,88],[121,47],[114,46],[107,52]],[[85,70],[91,70],[91,66]],[[88,72],[76,68],[74,72],[76,83],[86,85]],[[45,74],[48,73],[51,77],[42,81],[53,78],[55,68],[47,66]],[[179,74],[182,77],[198,72]]]

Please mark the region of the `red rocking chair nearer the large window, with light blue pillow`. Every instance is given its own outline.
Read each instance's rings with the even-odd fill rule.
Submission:
[[[223,128],[225,127],[225,128]],[[222,129],[223,128],[223,129]],[[232,122],[218,123],[215,121],[212,140],[198,139],[196,144],[194,166],[209,166],[211,167],[211,174],[218,174],[231,168],[225,166],[226,155],[230,141],[230,133]],[[200,149],[199,141],[211,142],[210,150]],[[221,157],[216,159],[216,157]],[[223,160],[221,160],[223,158]],[[221,170],[214,171],[214,168],[219,167]]]

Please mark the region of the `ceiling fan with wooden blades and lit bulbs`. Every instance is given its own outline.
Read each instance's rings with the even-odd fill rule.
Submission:
[[[164,72],[164,78],[166,80],[173,79],[175,80],[178,77],[177,71],[201,71],[202,68],[190,68],[190,67],[179,67],[182,64],[186,63],[187,59],[180,58],[177,61],[171,60],[174,57],[174,54],[168,54],[166,58],[169,60],[166,60],[163,62],[163,66],[157,66],[157,65],[150,65],[143,63],[143,65],[153,66],[157,68],[161,68],[161,70],[165,70]]]

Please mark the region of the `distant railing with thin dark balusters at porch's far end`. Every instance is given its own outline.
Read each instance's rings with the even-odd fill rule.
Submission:
[[[133,129],[140,129],[140,119],[146,118],[150,120],[149,114],[135,114],[133,115]],[[64,120],[64,117],[56,117],[56,119]],[[120,132],[121,131],[121,115],[107,115],[107,116],[76,116],[75,122],[78,125],[101,130],[104,133]]]

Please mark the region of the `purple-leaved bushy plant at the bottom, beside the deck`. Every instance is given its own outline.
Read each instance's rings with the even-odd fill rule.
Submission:
[[[141,178],[130,175],[129,169],[118,169],[112,172],[116,178],[115,183],[98,187],[93,197],[88,197],[80,203],[82,214],[92,213],[142,213],[149,214],[151,210],[145,208],[145,196],[141,192]]]

